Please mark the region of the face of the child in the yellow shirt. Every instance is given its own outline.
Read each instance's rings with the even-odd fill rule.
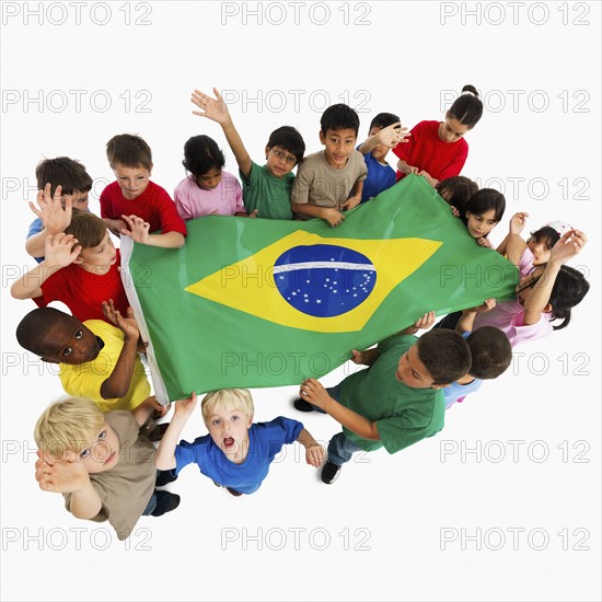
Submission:
[[[51,363],[77,366],[99,357],[104,343],[71,315],[57,321],[42,340],[42,359]]]

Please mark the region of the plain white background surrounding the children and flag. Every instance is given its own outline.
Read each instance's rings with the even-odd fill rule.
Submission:
[[[599,600],[600,4],[329,2],[328,14],[273,2],[263,24],[245,13],[256,2],[79,4],[2,5],[2,598]],[[115,134],[149,142],[153,180],[169,190],[196,134],[212,136],[236,172],[219,126],[192,115],[194,88],[231,91],[262,163],[285,124],[319,150],[327,104],[356,106],[364,136],[382,111],[410,127],[442,118],[465,83],[486,102],[463,173],[508,201],[494,242],[518,210],[531,229],[563,219],[590,236],[572,265],[592,289],[567,329],[516,349],[508,373],[453,407],[437,437],[358,459],[332,486],[298,445],[253,496],[233,498],[190,468],[170,486],[180,508],[142,518],[127,543],[37,488],[32,431],[61,390],[18,346],[33,303],[8,289],[34,265],[24,236],[39,160],[81,160],[100,212]],[[294,393],[257,391],[256,419],[306,418],[324,441],[337,432],[328,417],[298,415]],[[197,414],[184,436],[204,432]]]

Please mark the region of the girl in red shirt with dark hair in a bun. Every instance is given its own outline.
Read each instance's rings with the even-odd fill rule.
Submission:
[[[397,178],[417,173],[435,187],[441,180],[459,175],[468,157],[468,144],[463,136],[473,129],[482,115],[483,103],[476,89],[465,85],[462,95],[445,113],[444,121],[420,121],[412,129],[409,143],[393,150],[400,158]]]

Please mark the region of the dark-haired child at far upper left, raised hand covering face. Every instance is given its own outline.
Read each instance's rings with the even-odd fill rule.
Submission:
[[[37,205],[30,208],[37,216],[27,232],[25,251],[40,263],[46,236],[65,232],[71,221],[71,208],[88,211],[88,193],[92,178],[85,166],[68,157],[45,159],[35,169]]]

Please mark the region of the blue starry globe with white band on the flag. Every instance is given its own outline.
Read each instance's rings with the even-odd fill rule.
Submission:
[[[274,280],[296,310],[315,317],[334,317],[368,299],[377,282],[377,270],[357,251],[314,244],[282,253],[274,264]]]

